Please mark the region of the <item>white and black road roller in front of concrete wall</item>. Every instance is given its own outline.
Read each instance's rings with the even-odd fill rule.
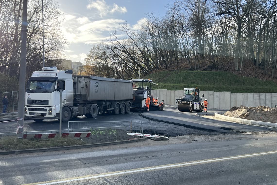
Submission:
[[[202,112],[204,108],[204,102],[199,97],[198,88],[184,88],[183,97],[176,99],[178,103],[178,110],[181,112]],[[204,97],[204,95],[202,95]]]

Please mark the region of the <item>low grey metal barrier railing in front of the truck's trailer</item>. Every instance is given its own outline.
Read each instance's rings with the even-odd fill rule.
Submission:
[[[82,128],[97,128],[110,126],[126,126],[127,133],[136,132],[143,134],[142,120],[132,121],[68,121],[68,132]]]

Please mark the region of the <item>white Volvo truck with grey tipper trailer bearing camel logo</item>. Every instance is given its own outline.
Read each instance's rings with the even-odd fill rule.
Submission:
[[[25,94],[26,118],[34,121],[61,118],[65,122],[81,115],[96,118],[99,112],[130,112],[132,81],[72,73],[72,70],[63,71],[57,67],[43,67],[42,71],[33,72]]]

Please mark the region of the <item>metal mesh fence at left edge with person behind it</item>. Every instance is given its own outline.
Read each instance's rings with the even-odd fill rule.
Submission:
[[[14,113],[18,111],[18,92],[4,92],[0,93],[0,114]]]

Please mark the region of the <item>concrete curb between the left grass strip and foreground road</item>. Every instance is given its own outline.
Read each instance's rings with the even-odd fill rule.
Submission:
[[[87,144],[87,145],[63,146],[63,147],[55,147],[55,148],[26,149],[26,150],[12,150],[12,151],[0,151],[0,155],[90,148],[90,147],[96,147],[96,146],[108,146],[108,145],[119,145],[119,144],[124,144],[124,143],[134,143],[134,142],[137,142],[137,141],[146,141],[146,140],[147,140],[147,138],[144,137],[144,138],[138,138],[138,139],[124,140],[124,141],[112,141],[112,142],[106,142],[106,143],[96,143],[96,144]]]

